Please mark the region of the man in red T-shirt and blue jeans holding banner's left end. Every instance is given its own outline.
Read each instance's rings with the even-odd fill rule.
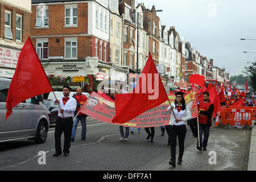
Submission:
[[[86,138],[86,117],[87,115],[80,112],[80,109],[85,104],[87,97],[82,94],[81,87],[76,88],[76,93],[73,95],[73,98],[76,99],[76,110],[74,112],[74,115],[77,117],[75,118],[73,122],[73,128],[72,128],[72,134],[71,134],[71,142],[74,142],[76,137],[76,129],[79,121],[82,125],[82,132],[81,132],[81,140],[85,140]]]

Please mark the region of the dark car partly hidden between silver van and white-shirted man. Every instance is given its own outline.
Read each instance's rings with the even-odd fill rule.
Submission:
[[[44,99],[42,101],[42,103],[44,104],[44,106],[46,106],[47,109],[47,113],[50,119],[50,125],[55,124],[56,123],[56,119],[58,116],[58,105],[54,105],[53,104],[54,100],[47,100]]]

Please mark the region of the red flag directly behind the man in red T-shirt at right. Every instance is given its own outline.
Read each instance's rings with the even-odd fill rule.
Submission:
[[[209,93],[209,100],[211,102],[213,102],[214,104],[214,111],[213,111],[213,117],[216,117],[216,114],[218,113],[218,111],[221,111],[221,105],[220,105],[220,100],[218,98],[218,94],[217,94],[217,90],[215,87],[215,84],[213,86],[211,86],[210,84],[208,85],[207,89],[205,90],[205,92]],[[203,98],[203,94],[201,94],[198,97],[198,100],[204,100]]]

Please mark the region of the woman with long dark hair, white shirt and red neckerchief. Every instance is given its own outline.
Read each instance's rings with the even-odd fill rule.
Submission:
[[[169,123],[169,141],[171,143],[171,159],[169,164],[173,167],[176,166],[176,141],[179,139],[179,157],[177,164],[181,164],[182,156],[184,153],[184,140],[187,133],[187,120],[191,119],[191,111],[185,105],[183,92],[176,92],[175,102],[172,103],[167,111],[171,111]],[[175,115],[174,115],[175,114]],[[176,117],[176,118],[175,118]]]

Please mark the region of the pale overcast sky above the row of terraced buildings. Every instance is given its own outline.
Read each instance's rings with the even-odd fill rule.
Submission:
[[[213,65],[240,75],[255,60],[255,0],[135,0],[151,9],[155,5],[162,25],[175,26],[180,38],[191,43]]]

